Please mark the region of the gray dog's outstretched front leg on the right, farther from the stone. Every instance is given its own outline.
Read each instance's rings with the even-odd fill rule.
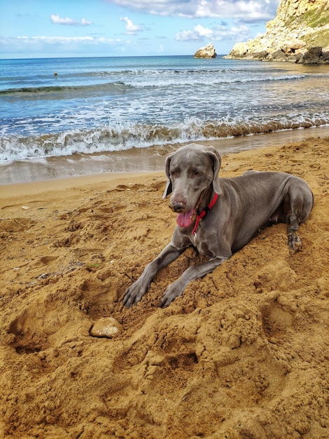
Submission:
[[[211,273],[211,271],[216,269],[216,266],[221,265],[226,259],[228,258],[214,257],[203,264],[190,266],[176,282],[169,285],[159,306],[161,306],[161,308],[168,306],[176,297],[183,295],[188,283],[202,278],[202,276],[205,276],[207,273]]]

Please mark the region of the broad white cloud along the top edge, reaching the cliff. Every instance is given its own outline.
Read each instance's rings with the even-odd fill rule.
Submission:
[[[151,15],[188,18],[235,18],[242,22],[272,20],[279,0],[105,0]]]

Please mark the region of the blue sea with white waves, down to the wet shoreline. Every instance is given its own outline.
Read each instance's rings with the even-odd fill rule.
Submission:
[[[329,135],[328,65],[221,55],[0,60],[0,184],[158,170],[181,144],[227,153],[287,131],[289,140]]]

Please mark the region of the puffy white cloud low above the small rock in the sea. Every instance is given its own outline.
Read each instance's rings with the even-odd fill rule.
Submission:
[[[176,34],[176,41],[221,41],[221,40],[233,40],[244,41],[249,38],[249,29],[246,25],[240,25],[239,27],[226,25],[217,25],[214,29],[202,27],[197,25],[193,27],[193,30],[183,30]]]

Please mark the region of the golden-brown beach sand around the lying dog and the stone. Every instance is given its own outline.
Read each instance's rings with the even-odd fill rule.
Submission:
[[[315,205],[291,254],[261,231],[167,309],[192,249],[132,309],[169,241],[164,173],[1,187],[1,438],[328,438],[329,137],[232,154],[298,175]],[[116,337],[97,338],[100,318]]]

